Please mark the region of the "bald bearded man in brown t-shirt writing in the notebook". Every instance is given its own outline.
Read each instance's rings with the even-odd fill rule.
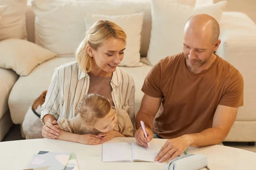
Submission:
[[[184,28],[183,52],[160,60],[145,78],[135,138],[145,147],[153,136],[169,139],[155,161],[171,161],[188,146],[220,144],[243,105],[241,74],[214,53],[221,43],[219,32],[209,15],[192,16]]]

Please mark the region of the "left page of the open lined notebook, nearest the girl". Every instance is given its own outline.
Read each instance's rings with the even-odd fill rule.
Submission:
[[[102,161],[132,161],[131,143],[111,143],[102,145]]]

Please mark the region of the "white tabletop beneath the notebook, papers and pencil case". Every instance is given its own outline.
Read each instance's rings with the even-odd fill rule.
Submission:
[[[164,144],[166,139],[151,142]],[[114,138],[105,143],[135,142],[135,138]],[[165,170],[166,163],[102,162],[102,145],[84,145],[53,139],[30,139],[0,142],[0,170],[26,169],[40,150],[74,152],[80,170]],[[256,153],[233,147],[213,145],[188,148],[188,153],[202,153],[208,157],[211,170],[255,170]],[[206,168],[204,168],[206,169]],[[202,169],[203,170],[203,169]]]

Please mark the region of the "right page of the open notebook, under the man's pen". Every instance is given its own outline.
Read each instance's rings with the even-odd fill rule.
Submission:
[[[134,161],[155,162],[157,153],[162,148],[160,144],[150,144],[150,149],[140,146],[136,142],[131,143],[132,159]]]

